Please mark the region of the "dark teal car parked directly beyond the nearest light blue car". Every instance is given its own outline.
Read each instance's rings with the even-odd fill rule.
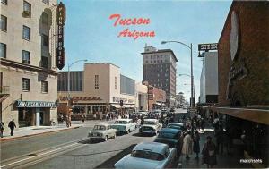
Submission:
[[[177,156],[180,155],[180,137],[181,131],[178,129],[172,129],[172,128],[163,128],[159,132],[157,138],[154,140],[154,142],[161,142],[164,144],[167,144],[169,148],[176,148],[177,149]]]

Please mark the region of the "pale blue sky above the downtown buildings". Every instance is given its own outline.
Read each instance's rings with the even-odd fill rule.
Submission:
[[[143,80],[143,47],[170,48],[178,57],[177,74],[190,74],[190,51],[179,44],[161,45],[162,40],[193,43],[195,97],[200,94],[202,61],[197,57],[198,45],[217,43],[230,10],[231,1],[98,1],[62,0],[66,7],[65,53],[66,65],[78,59],[88,62],[109,62],[120,67],[121,73]],[[114,27],[111,14],[122,18],[149,18],[148,25]],[[154,31],[154,38],[118,38],[120,31]],[[67,70],[65,65],[64,70]],[[76,63],[72,71],[82,70]],[[190,97],[190,79],[177,77],[177,93]]]

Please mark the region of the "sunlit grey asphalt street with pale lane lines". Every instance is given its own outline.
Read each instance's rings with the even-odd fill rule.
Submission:
[[[176,110],[176,119],[185,112]],[[86,123],[78,129],[1,143],[1,168],[83,169],[113,166],[137,143],[155,139],[155,136],[141,137],[137,130],[116,139],[108,139],[107,142],[90,143],[87,133],[93,123]]]

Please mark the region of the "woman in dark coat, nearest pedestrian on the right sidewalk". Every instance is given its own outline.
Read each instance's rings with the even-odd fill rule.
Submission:
[[[216,146],[212,141],[212,137],[207,136],[206,139],[207,141],[204,143],[202,150],[203,164],[206,164],[207,168],[213,168],[213,165],[217,165]]]

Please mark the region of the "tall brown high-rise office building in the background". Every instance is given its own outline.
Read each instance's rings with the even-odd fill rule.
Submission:
[[[166,91],[166,105],[176,106],[176,72],[178,59],[171,49],[157,50],[145,46],[143,55],[143,80],[153,87]]]

